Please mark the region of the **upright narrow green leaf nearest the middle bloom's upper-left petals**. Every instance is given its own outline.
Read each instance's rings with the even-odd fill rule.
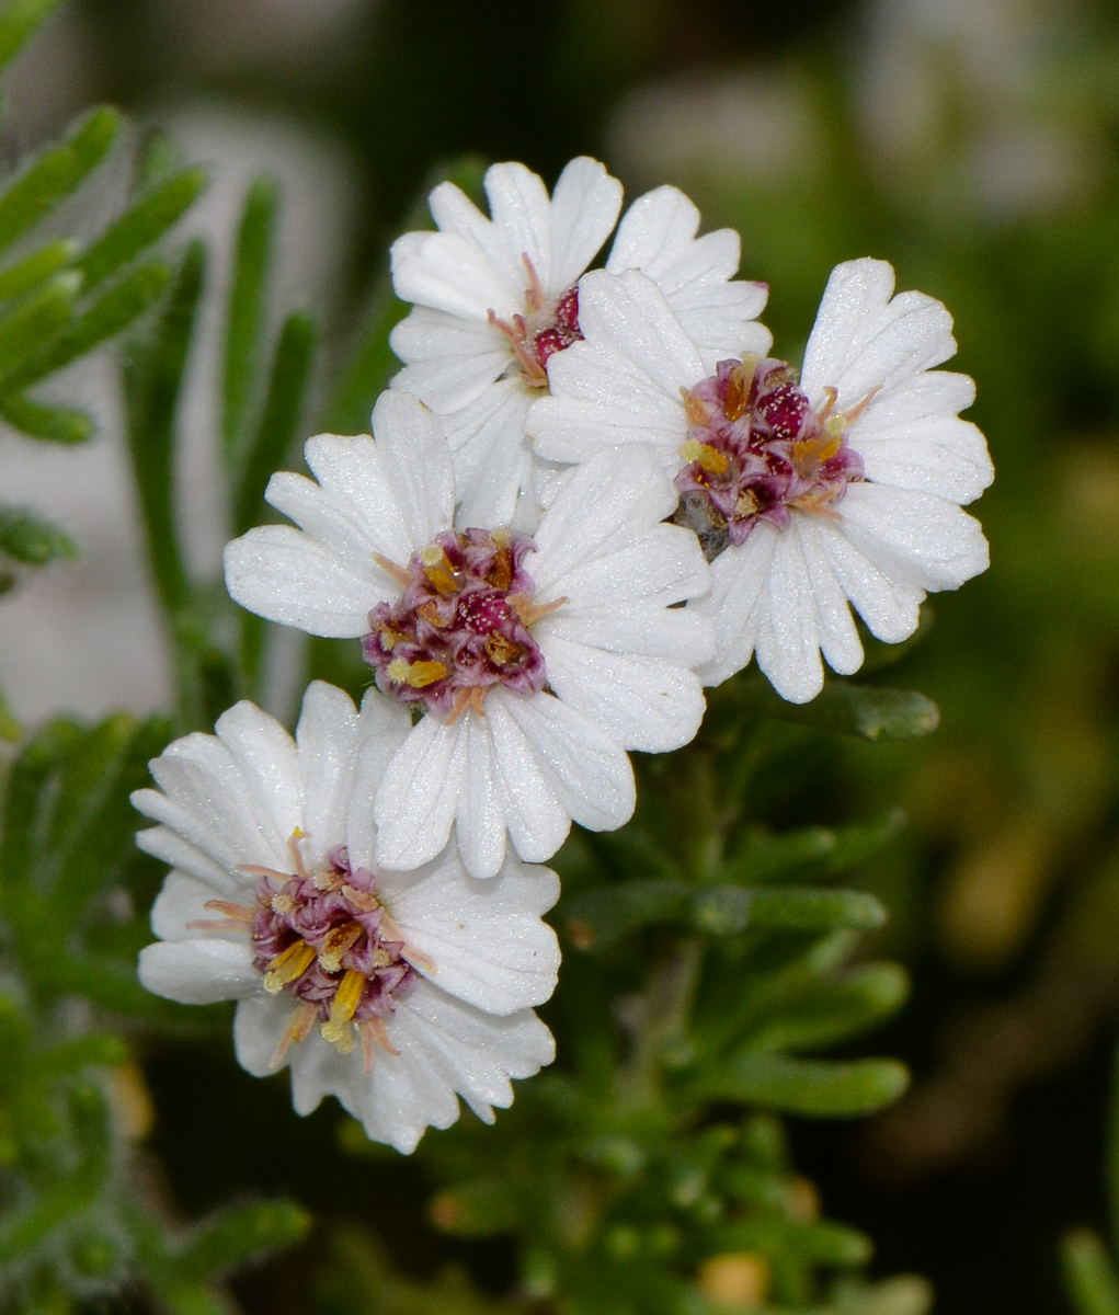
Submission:
[[[288,316],[272,358],[264,414],[234,500],[234,534],[245,534],[260,519],[264,488],[283,463],[298,429],[313,351],[314,321],[300,313]]]

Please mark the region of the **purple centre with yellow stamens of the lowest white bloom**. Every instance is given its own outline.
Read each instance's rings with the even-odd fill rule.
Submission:
[[[292,852],[298,860],[296,840]],[[318,1020],[326,1040],[348,1051],[352,1030],[360,1034],[368,1024],[367,1048],[389,1048],[384,1019],[393,1013],[393,997],[416,980],[405,959],[405,953],[417,957],[416,952],[377,899],[376,877],[367,868],[351,868],[345,846],[333,849],[314,874],[300,861],[297,868],[292,876],[262,872],[256,885],[249,936],[264,989],[309,1006],[296,1015],[302,1035],[291,1040],[301,1040]]]

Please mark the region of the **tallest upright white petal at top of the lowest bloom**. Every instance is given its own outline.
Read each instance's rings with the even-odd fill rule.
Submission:
[[[358,744],[358,710],[347,693],[316,680],[306,688],[296,727],[304,789],[304,861],[320,864],[346,835]]]

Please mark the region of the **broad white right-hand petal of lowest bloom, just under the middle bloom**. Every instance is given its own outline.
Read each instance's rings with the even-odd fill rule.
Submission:
[[[440,990],[488,1014],[542,1005],[555,990],[559,942],[540,914],[559,898],[559,878],[547,868],[510,856],[497,877],[477,881],[450,846],[421,873],[385,873],[377,890],[435,961],[434,972],[419,970]]]

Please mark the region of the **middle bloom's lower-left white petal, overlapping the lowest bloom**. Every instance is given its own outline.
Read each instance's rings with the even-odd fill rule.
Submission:
[[[447,844],[467,769],[465,721],[425,717],[393,753],[377,790],[377,863],[409,871]]]

